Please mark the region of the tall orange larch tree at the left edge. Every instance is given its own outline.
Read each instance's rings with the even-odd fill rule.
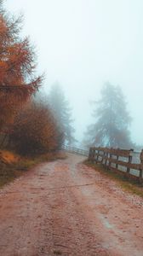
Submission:
[[[20,38],[22,18],[8,15],[0,1],[0,131],[14,119],[22,102],[37,91],[35,53],[28,38]]]

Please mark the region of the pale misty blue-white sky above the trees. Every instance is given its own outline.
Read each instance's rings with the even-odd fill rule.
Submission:
[[[143,144],[143,1],[7,0],[25,16],[23,34],[36,45],[44,92],[58,80],[73,108],[77,137],[91,122],[90,100],[106,81],[127,98],[133,141]]]

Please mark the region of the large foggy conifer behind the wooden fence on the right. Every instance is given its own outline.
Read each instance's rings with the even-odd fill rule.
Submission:
[[[129,125],[131,118],[123,91],[119,86],[106,83],[101,90],[101,98],[94,102],[95,122],[89,125],[89,144],[109,148],[129,148]]]

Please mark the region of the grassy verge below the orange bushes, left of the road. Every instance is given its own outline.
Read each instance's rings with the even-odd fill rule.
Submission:
[[[12,156],[14,154],[9,152],[9,155]],[[57,152],[26,158],[16,155],[16,159],[17,160],[14,161],[0,160],[0,188],[5,184],[14,181],[16,177],[23,175],[25,172],[30,170],[31,167],[47,161],[57,159],[64,160],[66,159],[66,154],[64,152]]]

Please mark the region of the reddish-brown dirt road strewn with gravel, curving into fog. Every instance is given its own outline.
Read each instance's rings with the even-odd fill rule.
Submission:
[[[0,256],[142,256],[143,200],[69,154],[0,190]]]

